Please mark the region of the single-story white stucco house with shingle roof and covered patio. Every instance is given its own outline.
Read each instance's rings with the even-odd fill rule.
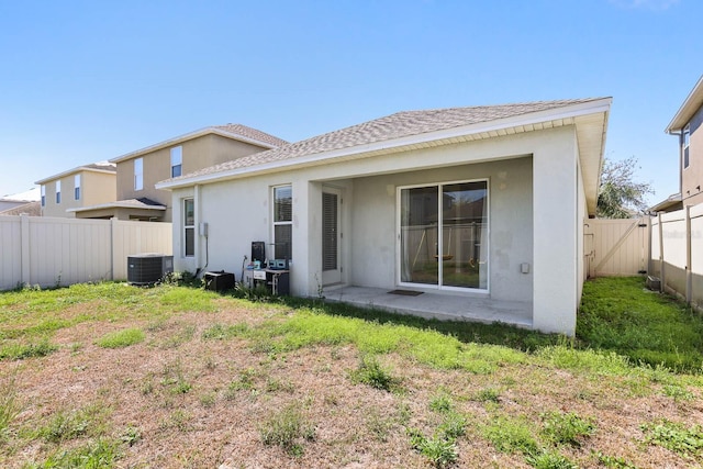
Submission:
[[[156,185],[178,208],[175,268],[238,277],[263,241],[290,259],[294,295],[427,293],[416,301],[451,299],[459,320],[510,302],[528,313],[521,325],[572,335],[610,107],[399,112],[183,171]]]

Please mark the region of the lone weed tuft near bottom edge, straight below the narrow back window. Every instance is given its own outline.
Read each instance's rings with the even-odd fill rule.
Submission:
[[[303,451],[301,439],[312,440],[315,426],[301,414],[299,405],[292,403],[279,412],[272,413],[259,426],[261,443],[280,446],[293,456]]]

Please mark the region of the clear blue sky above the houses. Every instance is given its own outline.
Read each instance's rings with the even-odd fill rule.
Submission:
[[[0,196],[208,125],[288,141],[401,110],[613,97],[606,157],[678,191],[663,129],[699,0],[0,0]]]

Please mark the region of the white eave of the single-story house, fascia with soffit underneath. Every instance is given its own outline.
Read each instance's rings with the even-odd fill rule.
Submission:
[[[589,185],[589,188],[587,188],[587,200],[589,202],[589,210],[591,210],[591,208],[593,208],[594,210],[599,182],[598,175],[600,175],[600,168],[602,165],[603,148],[605,145],[604,136],[605,130],[607,129],[607,114],[610,112],[611,103],[611,98],[603,98],[585,103],[559,108],[557,110],[534,112],[529,114],[470,124],[449,130],[428,132],[395,139],[377,142],[373,144],[357,145],[347,148],[334,149],[331,152],[304,155],[297,158],[269,161],[255,166],[235,168],[209,175],[199,175],[193,177],[165,180],[158,182],[156,185],[156,188],[174,190],[196,185],[213,183],[269,172],[317,166],[332,161],[343,161],[410,149],[428,148],[440,145],[493,138],[524,132],[532,132],[536,130],[546,130],[565,125],[577,125],[578,127],[579,123],[582,121],[582,118],[596,114],[603,115],[602,123],[596,125],[595,130],[598,134],[596,138],[601,141],[601,144],[598,145],[598,150],[595,152],[598,153],[598,155],[585,155],[585,157],[588,157],[588,159],[590,160],[595,159],[595,165],[598,166],[596,170],[590,171],[591,174],[595,172],[595,175],[590,176],[592,179],[594,179],[594,181]]]

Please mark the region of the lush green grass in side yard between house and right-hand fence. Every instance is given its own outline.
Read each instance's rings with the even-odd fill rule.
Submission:
[[[599,278],[583,288],[577,336],[634,364],[701,372],[703,321],[671,297],[645,290],[644,279]]]

